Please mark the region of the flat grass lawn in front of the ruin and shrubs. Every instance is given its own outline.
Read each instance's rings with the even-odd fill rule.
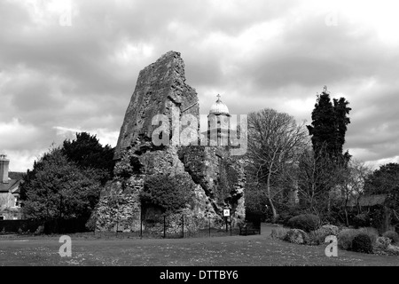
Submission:
[[[295,245],[268,234],[187,239],[96,239],[70,235],[72,256],[59,256],[58,236],[0,238],[0,266],[6,265],[399,265],[398,256],[338,251]]]

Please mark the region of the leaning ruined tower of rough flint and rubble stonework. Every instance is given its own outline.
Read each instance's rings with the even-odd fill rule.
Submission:
[[[139,200],[145,176],[155,174],[184,175],[194,188],[186,208],[168,216],[168,233],[181,232],[182,214],[184,231],[205,228],[209,221],[222,227],[224,208],[231,209],[233,226],[245,218],[245,172],[226,147],[153,145],[152,133],[159,127],[152,125],[153,116],[165,114],[171,122],[173,108],[200,121],[197,92],[185,83],[184,61],[179,52],[169,51],[138,75],[115,148],[115,177],[95,211],[96,230],[138,231],[143,217],[143,229],[161,232],[160,222],[145,222],[156,209],[142,209]]]

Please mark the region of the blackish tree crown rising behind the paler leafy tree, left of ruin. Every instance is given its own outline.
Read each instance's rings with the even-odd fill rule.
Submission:
[[[68,161],[75,162],[82,169],[99,170],[103,184],[113,177],[113,150],[109,145],[102,146],[96,135],[87,132],[76,133],[73,141],[65,140],[61,149]]]

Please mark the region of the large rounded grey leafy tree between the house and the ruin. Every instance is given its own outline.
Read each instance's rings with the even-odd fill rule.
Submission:
[[[41,221],[89,218],[99,199],[99,179],[95,170],[82,170],[60,148],[53,148],[27,172],[21,185],[26,196],[23,212]]]

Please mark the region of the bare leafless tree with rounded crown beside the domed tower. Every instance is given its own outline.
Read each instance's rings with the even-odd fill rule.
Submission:
[[[246,155],[249,176],[252,176],[254,186],[262,187],[270,203],[273,222],[278,217],[275,197],[282,189],[277,186],[272,188],[272,185],[306,146],[308,136],[303,126],[303,123],[298,125],[293,116],[270,108],[248,115]],[[251,180],[251,177],[248,179]]]

